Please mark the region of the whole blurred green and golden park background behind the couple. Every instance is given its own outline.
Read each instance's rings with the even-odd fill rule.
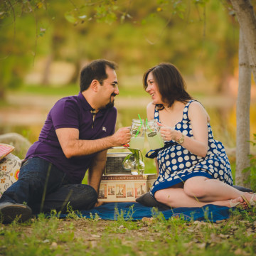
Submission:
[[[18,132],[35,142],[55,101],[78,94],[81,67],[97,58],[119,65],[117,127],[129,126],[138,114],[146,118],[150,97],[142,88],[144,72],[171,62],[183,73],[188,92],[206,107],[215,139],[233,157],[239,27],[226,1],[206,1],[206,6],[179,1],[176,9],[167,4],[171,1],[117,1],[116,9],[110,4],[115,16],[95,16],[100,1],[78,14],[83,2],[88,1],[50,1],[47,8],[41,3],[33,14],[15,9],[15,18],[1,12],[0,134]],[[251,138],[253,133],[252,80]]]

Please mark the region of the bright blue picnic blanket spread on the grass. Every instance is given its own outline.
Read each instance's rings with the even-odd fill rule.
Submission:
[[[164,210],[143,206],[141,203],[104,203],[102,206],[91,210],[80,210],[79,213],[86,218],[101,218],[103,220],[142,220],[143,217],[159,217],[168,220],[173,216],[181,216],[184,220],[202,220],[215,223],[217,220],[229,218],[231,210],[225,206],[207,205],[201,208],[174,208]],[[78,213],[78,214],[79,214]],[[61,214],[60,218],[65,218]]]

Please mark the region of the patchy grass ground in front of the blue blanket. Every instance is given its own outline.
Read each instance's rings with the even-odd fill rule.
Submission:
[[[228,220],[139,221],[39,215],[27,223],[0,224],[0,255],[255,255],[256,209],[235,210]]]

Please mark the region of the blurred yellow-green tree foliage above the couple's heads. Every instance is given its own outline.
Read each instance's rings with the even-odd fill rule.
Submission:
[[[215,92],[227,90],[238,66],[239,27],[229,1],[4,0],[0,30],[0,97],[41,59],[41,85],[54,61],[74,65],[69,83],[82,63],[107,58],[128,80],[168,61],[187,76],[206,77]]]

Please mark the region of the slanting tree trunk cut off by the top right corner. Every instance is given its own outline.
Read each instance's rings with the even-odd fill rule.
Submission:
[[[230,0],[242,30],[250,68],[256,82],[256,17],[250,0]]]

